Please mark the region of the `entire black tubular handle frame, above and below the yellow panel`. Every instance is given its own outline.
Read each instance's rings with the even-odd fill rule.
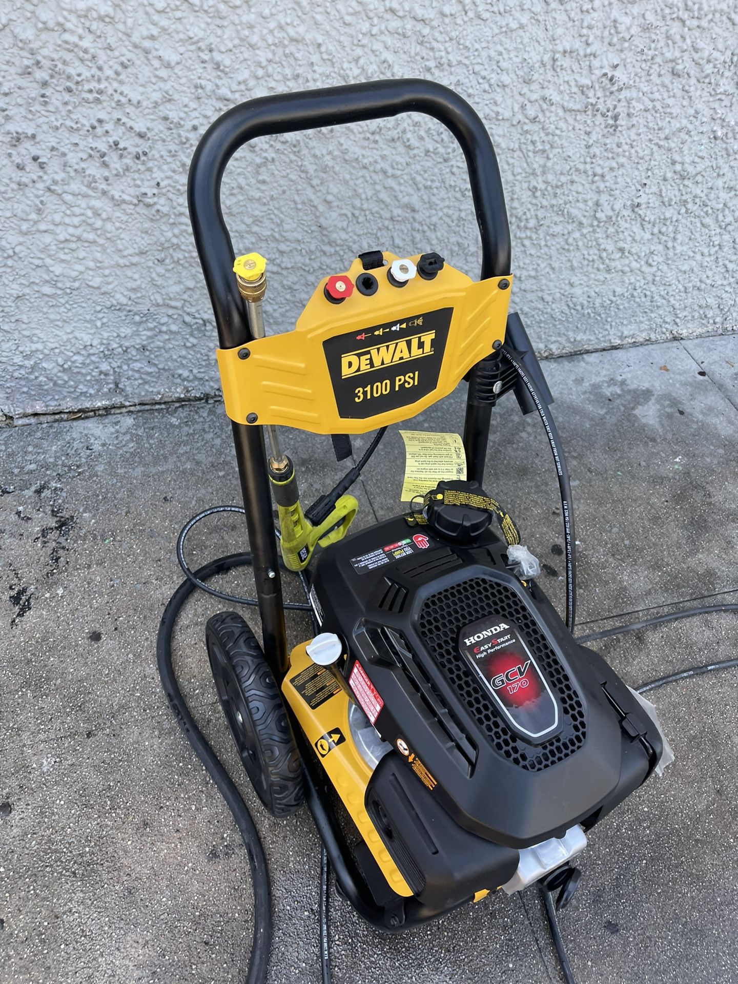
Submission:
[[[252,340],[245,302],[232,273],[233,246],[220,207],[222,177],[233,154],[258,137],[406,112],[425,113],[443,123],[456,137],[466,159],[481,237],[481,278],[510,274],[510,227],[497,158],[484,124],[456,92],[423,79],[392,79],[251,99],[223,113],[203,135],[192,158],[187,187],[195,245],[213,304],[221,348],[241,346]],[[484,469],[490,412],[489,404],[467,398],[464,448],[470,479],[479,480]],[[261,426],[234,421],[231,426],[252,550],[263,648],[280,682],[287,667],[287,641],[264,433]]]

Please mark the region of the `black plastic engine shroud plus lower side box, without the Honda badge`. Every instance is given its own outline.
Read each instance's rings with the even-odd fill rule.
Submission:
[[[505,551],[491,529],[461,544],[400,517],[326,550],[313,579],[321,630],[345,641],[344,672],[359,662],[383,702],[375,726],[395,750],[365,805],[428,911],[503,884],[521,848],[593,826],[661,754],[637,698],[507,570]],[[479,685],[459,641],[482,617],[523,639],[558,706],[552,732],[516,730]],[[412,904],[405,917],[424,918]]]

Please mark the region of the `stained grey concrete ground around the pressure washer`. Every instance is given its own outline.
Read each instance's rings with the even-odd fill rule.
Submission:
[[[690,599],[738,600],[736,364],[736,337],[545,364],[574,478],[580,631]],[[461,392],[415,423],[458,430]],[[238,502],[222,407],[5,429],[0,443],[0,981],[242,980],[246,858],[154,662],[158,620],[181,580],[179,528],[206,506]],[[338,478],[328,439],[286,434],[285,445],[306,500]],[[360,522],[399,511],[402,467],[394,429],[358,488]],[[488,472],[488,491],[508,504],[561,604],[550,453],[512,397],[494,413]],[[202,526],[194,563],[243,543],[238,517]],[[248,580],[232,584],[248,590]],[[305,810],[268,817],[239,771],[204,649],[218,607],[206,596],[188,604],[176,665],[264,837],[271,980],[318,981],[318,838]],[[735,655],[737,626],[719,614],[600,650],[638,684]],[[292,641],[309,633],[299,618],[289,630]],[[561,920],[581,984],[738,979],[737,695],[732,670],[654,694],[676,762],[592,831]],[[534,890],[395,938],[334,896],[332,942],[337,984],[560,979]]]

